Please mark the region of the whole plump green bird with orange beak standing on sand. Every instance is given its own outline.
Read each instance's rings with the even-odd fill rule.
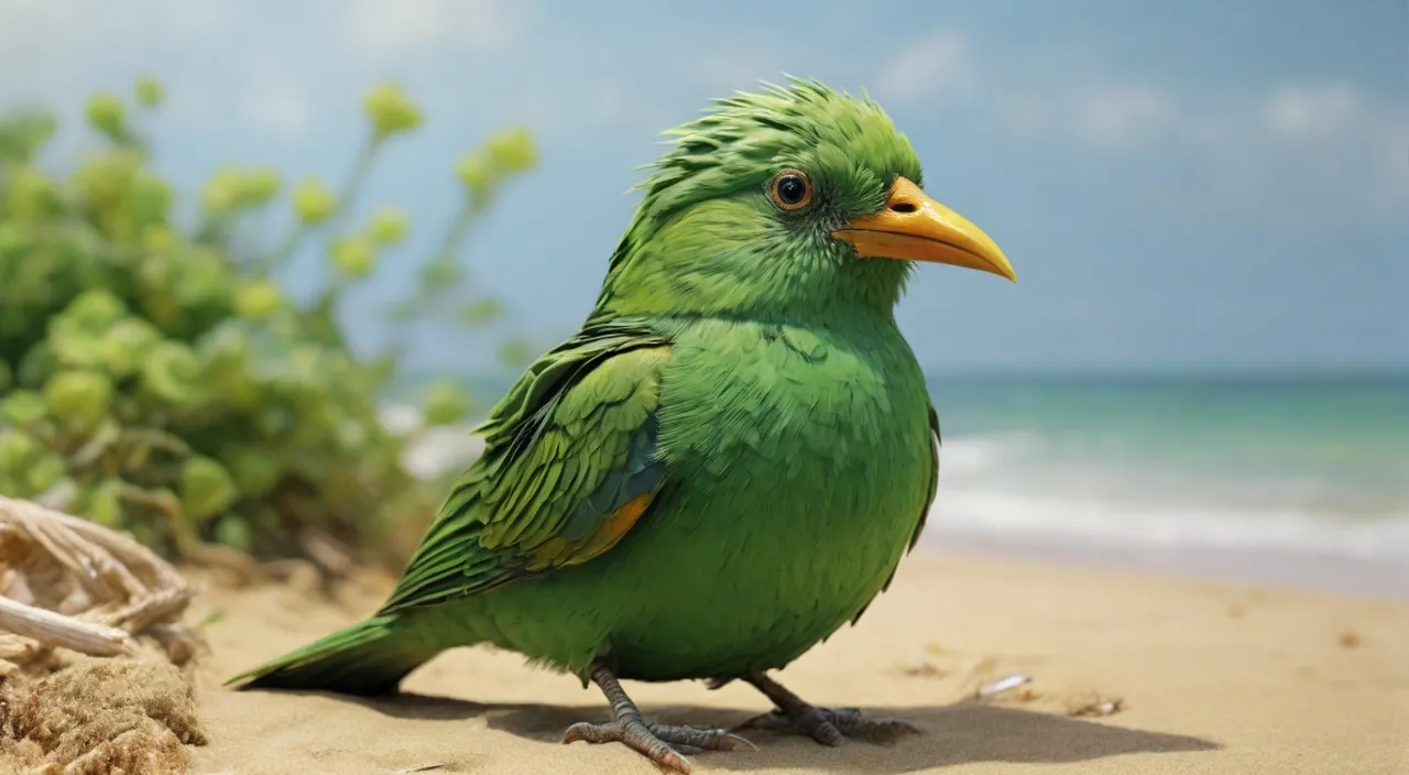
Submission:
[[[389,693],[492,644],[606,695],[565,743],[681,772],[752,744],[651,721],[619,679],[745,681],[776,706],[745,726],[828,745],[919,731],[768,671],[855,623],[924,527],[940,424],[893,314],[914,262],[1012,265],[869,99],[792,80],[669,134],[595,309],[476,428],[382,609],[231,682]]]

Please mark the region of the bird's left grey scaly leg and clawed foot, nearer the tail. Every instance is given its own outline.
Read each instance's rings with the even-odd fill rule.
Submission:
[[[679,727],[648,721],[641,716],[641,710],[631,702],[631,698],[621,689],[621,683],[612,674],[612,668],[602,659],[592,664],[589,672],[592,681],[602,688],[607,702],[612,703],[612,723],[589,724],[581,721],[568,727],[562,734],[562,741],[576,743],[623,743],[645,758],[668,767],[676,772],[688,774],[690,762],[682,754],[696,751],[757,751],[758,747],[728,730]],[[674,745],[674,748],[672,748]]]

